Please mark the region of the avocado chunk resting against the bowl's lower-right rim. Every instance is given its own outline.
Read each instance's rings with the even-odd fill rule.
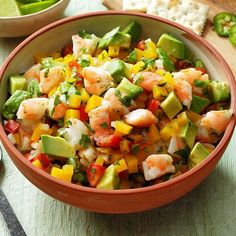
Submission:
[[[189,160],[188,160],[188,166],[189,168],[193,168],[197,164],[199,164],[201,161],[203,161],[208,155],[209,151],[199,142],[197,142],[192,151],[190,152]]]

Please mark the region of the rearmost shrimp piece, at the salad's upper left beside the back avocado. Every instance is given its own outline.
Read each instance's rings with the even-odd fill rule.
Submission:
[[[75,58],[78,58],[82,54],[90,54],[93,55],[99,38],[94,34],[91,35],[91,39],[83,39],[79,35],[72,36],[73,42],[73,55]]]

